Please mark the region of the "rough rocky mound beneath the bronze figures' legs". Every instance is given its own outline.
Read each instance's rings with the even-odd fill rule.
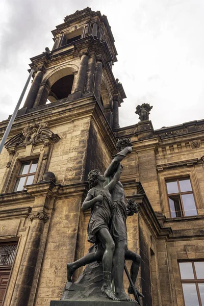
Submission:
[[[86,266],[77,282],[67,283],[61,300],[110,301],[100,292],[103,285],[103,266],[94,262]]]

